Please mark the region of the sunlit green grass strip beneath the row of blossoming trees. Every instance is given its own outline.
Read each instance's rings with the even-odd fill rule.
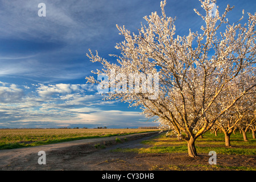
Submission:
[[[244,142],[242,134],[231,135],[230,143],[232,147],[226,147],[224,134],[206,133],[204,138],[197,138],[195,145],[198,154],[208,154],[209,151],[216,151],[217,154],[226,155],[256,155],[256,139],[247,136],[249,141]],[[166,136],[165,134],[150,140],[141,142],[145,147],[142,148],[118,148],[118,152],[137,152],[143,153],[187,153],[187,142],[179,141],[176,137]]]

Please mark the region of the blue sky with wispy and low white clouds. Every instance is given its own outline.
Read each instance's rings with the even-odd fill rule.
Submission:
[[[45,17],[38,16],[42,2]],[[220,13],[228,3],[235,6],[231,20],[243,9],[255,13],[254,0],[219,0]],[[200,31],[194,8],[201,11],[199,1],[167,1],[167,16],[177,18],[176,35]],[[123,41],[115,24],[136,33],[152,11],[160,14],[160,0],[0,0],[0,128],[157,126],[140,109],[102,101],[85,80],[101,68],[86,57],[88,49],[115,61],[108,55],[119,53],[114,47]]]

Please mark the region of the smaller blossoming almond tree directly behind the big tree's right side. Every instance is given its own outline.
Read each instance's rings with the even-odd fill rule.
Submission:
[[[234,81],[236,81],[236,84],[234,84]],[[232,99],[230,98],[240,96],[243,92],[243,88],[245,87],[244,85],[248,84],[247,81],[253,80],[245,79],[245,77],[242,79],[236,77],[233,82],[231,82],[232,85],[227,84],[222,95],[215,101],[216,106],[213,107],[213,115],[214,113],[218,113],[227,105],[230,105],[229,102],[232,102]],[[215,122],[214,126],[222,130],[225,134],[225,145],[227,147],[230,147],[230,135],[232,134],[232,131],[237,127],[241,128],[243,126],[246,126],[245,128],[247,130],[255,122],[254,95],[256,90],[253,88],[250,90],[250,93],[251,94],[245,94],[242,100],[237,101],[232,108],[222,114]]]

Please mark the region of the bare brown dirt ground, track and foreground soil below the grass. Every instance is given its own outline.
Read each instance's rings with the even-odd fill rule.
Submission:
[[[115,148],[144,147],[142,140],[158,132],[117,137],[76,140],[45,146],[0,151],[3,171],[147,171],[147,170],[230,170],[230,167],[256,167],[255,156],[218,155],[217,166],[210,166],[207,154],[191,158],[188,154],[137,154],[113,152]],[[46,164],[38,164],[38,152],[46,152]],[[232,170],[232,168],[231,168]]]

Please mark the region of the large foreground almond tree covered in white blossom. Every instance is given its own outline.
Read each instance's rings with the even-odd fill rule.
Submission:
[[[229,5],[220,15],[218,6],[215,14],[209,13],[214,0],[200,0],[205,15],[195,10],[204,20],[201,30],[187,36],[175,35],[175,19],[166,16],[164,6],[160,3],[162,15],[156,12],[144,16],[147,24],[142,24],[138,34],[131,34],[125,26],[119,27],[119,34],[125,40],[115,48],[121,51],[117,63],[110,63],[90,51],[87,55],[91,61],[99,62],[103,69],[97,69],[97,75],[111,76],[122,73],[156,74],[159,76],[158,97],[149,99],[149,93],[109,92],[106,99],[119,99],[129,102],[130,106],[141,106],[146,117],[154,117],[163,126],[171,127],[177,137],[188,143],[189,156],[197,156],[195,140],[208,131],[237,101],[242,100],[255,87],[255,19],[256,14],[248,14],[245,24],[230,24],[226,14],[233,7]],[[221,32],[221,28],[225,28]],[[214,110],[216,101],[225,93],[227,85],[239,84],[233,80],[247,74],[251,81],[243,85],[243,92],[230,98],[228,104]],[[112,75],[113,76],[113,75]],[[97,83],[94,77],[86,77],[88,82]],[[112,80],[120,82],[122,79]],[[111,84],[112,83],[112,84]],[[133,84],[126,82],[127,85]],[[156,87],[155,87],[156,88]],[[214,115],[212,111],[215,111]]]

